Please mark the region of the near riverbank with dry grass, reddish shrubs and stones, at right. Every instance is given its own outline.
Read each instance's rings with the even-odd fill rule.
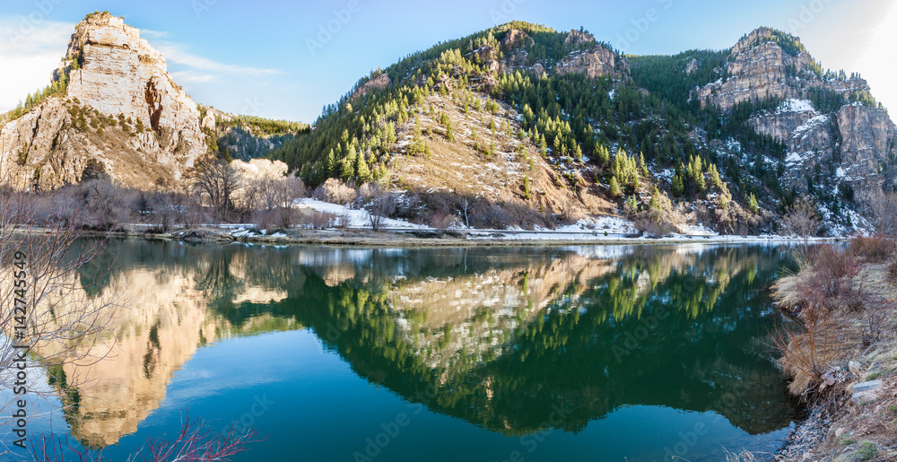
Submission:
[[[820,249],[773,287],[805,327],[780,345],[780,363],[810,403],[779,460],[897,459],[897,262],[893,242],[870,255],[865,241]]]

